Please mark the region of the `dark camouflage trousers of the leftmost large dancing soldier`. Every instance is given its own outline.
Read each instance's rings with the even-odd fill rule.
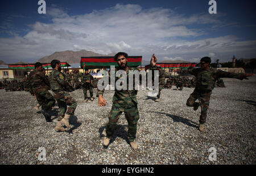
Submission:
[[[55,104],[53,96],[48,91],[37,92],[35,96],[36,100],[38,100],[38,104],[42,106],[42,109],[51,110],[52,106]]]

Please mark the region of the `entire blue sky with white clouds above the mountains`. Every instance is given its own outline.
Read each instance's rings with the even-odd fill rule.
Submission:
[[[100,54],[125,51],[150,60],[198,62],[256,57],[254,1],[208,0],[46,1],[3,0],[0,7],[0,60],[35,62],[55,51],[81,49]]]

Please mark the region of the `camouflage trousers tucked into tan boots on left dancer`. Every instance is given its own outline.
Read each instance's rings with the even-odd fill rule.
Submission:
[[[56,99],[60,108],[57,119],[58,121],[61,121],[61,119],[64,118],[65,113],[68,115],[74,114],[77,102],[72,96],[69,95],[68,92],[53,92],[53,97]]]

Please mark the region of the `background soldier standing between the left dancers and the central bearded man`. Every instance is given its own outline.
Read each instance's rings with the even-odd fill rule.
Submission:
[[[84,75],[82,75],[82,89],[84,91],[84,102],[88,100],[87,91],[90,92],[90,100],[93,101],[93,76],[89,74],[88,69],[85,69]]]

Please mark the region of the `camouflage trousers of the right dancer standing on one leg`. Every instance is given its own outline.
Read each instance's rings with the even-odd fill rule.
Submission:
[[[201,107],[201,115],[200,115],[200,124],[204,124],[207,118],[207,110],[209,108],[210,103],[210,95],[212,94],[212,91],[194,91],[191,93],[187,100],[187,106],[190,107],[196,107],[200,105]],[[199,100],[198,102],[195,102],[196,100]]]

